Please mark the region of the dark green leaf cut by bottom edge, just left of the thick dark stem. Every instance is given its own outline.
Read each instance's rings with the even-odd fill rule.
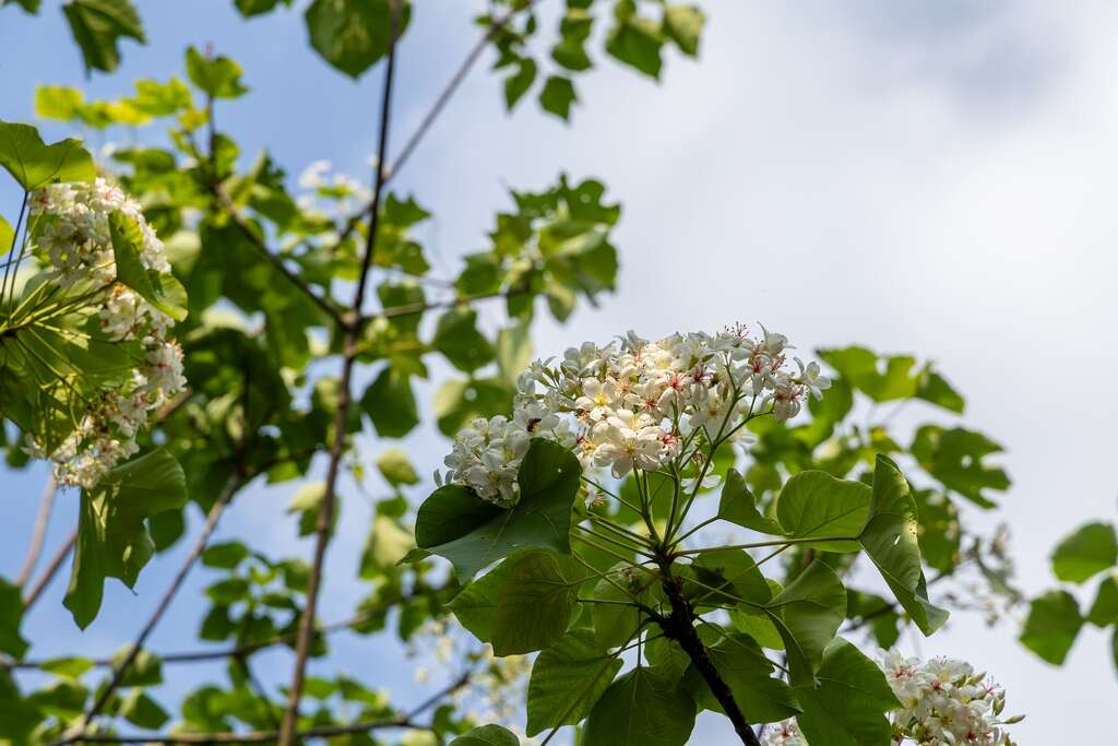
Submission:
[[[683,687],[638,667],[598,699],[581,746],[683,746],[694,724],[695,703]]]

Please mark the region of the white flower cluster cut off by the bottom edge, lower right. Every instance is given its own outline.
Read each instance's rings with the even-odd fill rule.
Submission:
[[[969,663],[934,658],[921,663],[896,650],[882,653],[881,668],[901,709],[893,714],[893,737],[918,744],[1012,746],[1002,720],[1005,691]]]

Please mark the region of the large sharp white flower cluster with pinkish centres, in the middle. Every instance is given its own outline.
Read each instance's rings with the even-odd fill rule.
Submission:
[[[512,419],[475,419],[455,437],[448,482],[472,487],[501,506],[515,504],[517,469],[532,437],[578,455],[584,469],[623,478],[655,471],[688,447],[739,434],[743,422],[771,412],[795,416],[802,402],[831,383],[815,362],[789,370],[788,340],[742,325],[717,334],[673,334],[650,342],[629,332],[598,347],[568,349],[521,374]]]

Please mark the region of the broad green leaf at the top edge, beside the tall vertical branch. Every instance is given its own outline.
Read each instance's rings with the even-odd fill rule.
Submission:
[[[404,36],[411,4],[402,2],[397,38]],[[391,43],[391,0],[314,0],[306,9],[311,46],[350,77],[377,64]]]

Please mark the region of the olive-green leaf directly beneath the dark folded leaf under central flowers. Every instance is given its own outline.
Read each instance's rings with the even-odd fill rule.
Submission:
[[[565,573],[550,551],[517,559],[498,592],[493,652],[531,653],[558,642],[578,612],[578,586],[584,579],[585,574]]]

